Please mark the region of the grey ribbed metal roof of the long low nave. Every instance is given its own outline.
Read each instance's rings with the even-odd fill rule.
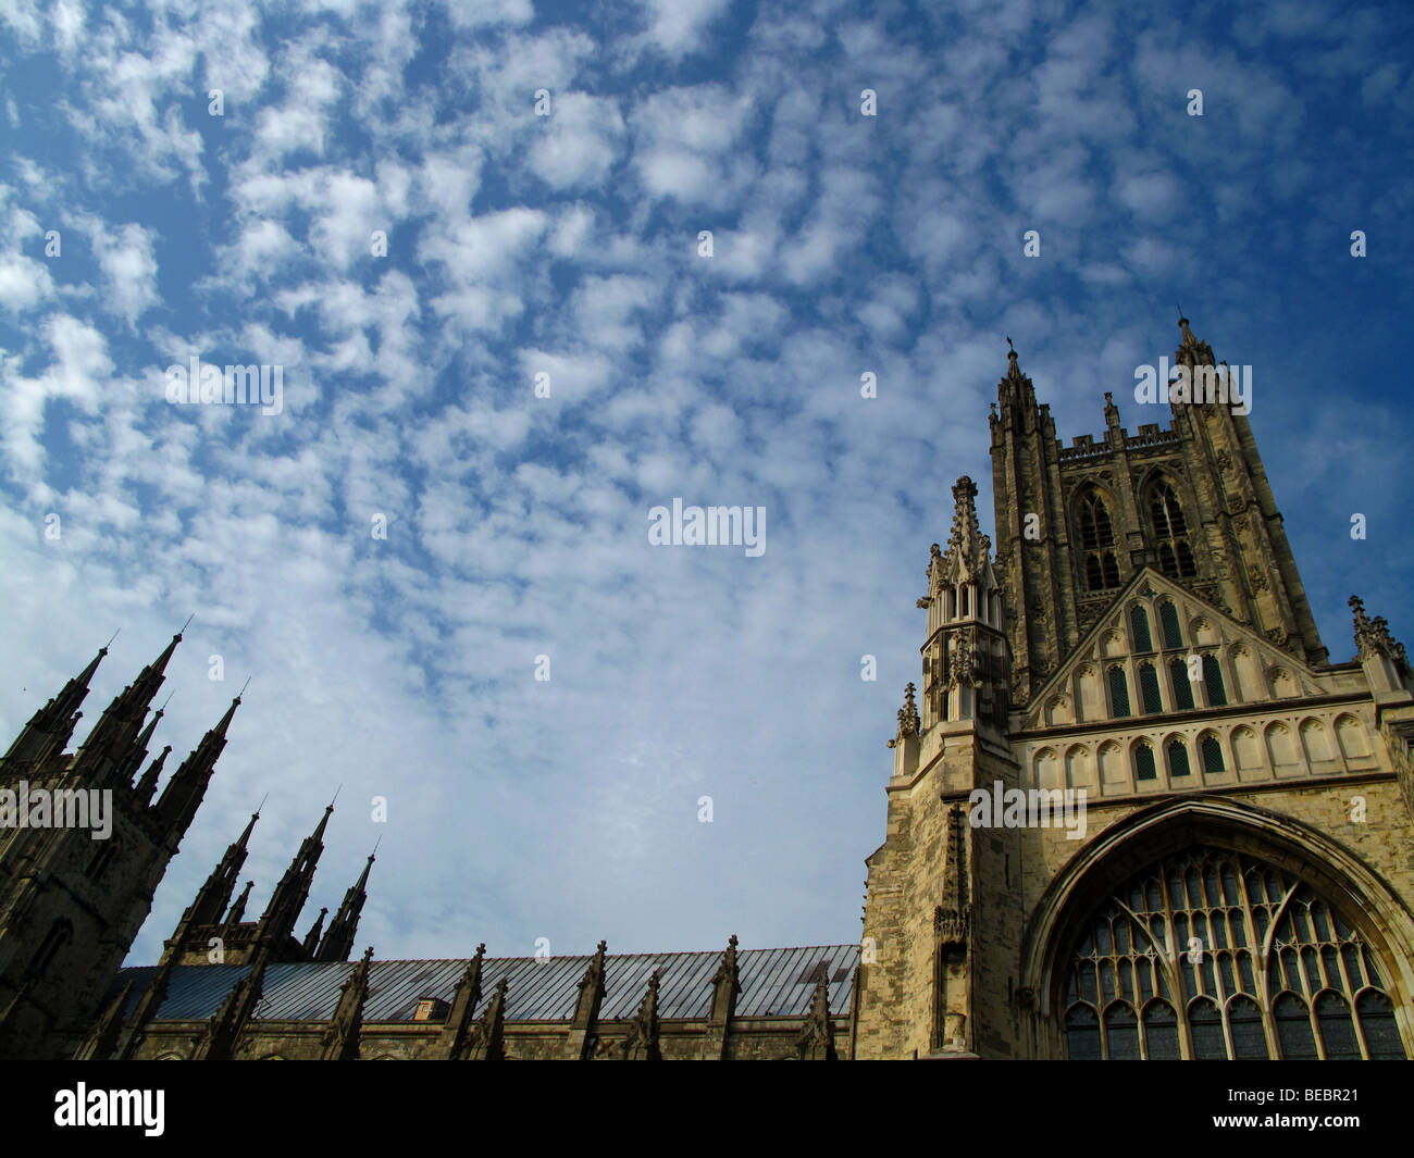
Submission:
[[[816,944],[799,949],[741,949],[737,952],[741,994],[737,1017],[803,1018],[819,969],[830,977],[830,1012],[850,1008],[858,944]],[[488,957],[482,961],[479,1017],[491,1002],[496,983],[505,977],[506,1021],[568,1021],[574,1015],[578,983],[590,967],[583,957]],[[662,1018],[706,1018],[711,1008],[711,977],[721,963],[720,950],[693,953],[609,954],[604,966],[607,1021],[632,1017],[648,990],[649,974],[659,971],[658,1015]],[[468,959],[444,961],[373,961],[365,1021],[411,1021],[417,1000],[440,997],[451,1001]],[[211,1018],[236,981],[250,966],[177,966],[157,1021],[205,1021]],[[339,988],[354,971],[354,961],[291,961],[266,970],[264,991],[255,1015],[273,1021],[328,1021],[339,1000]],[[119,970],[105,1001],[112,1001],[129,981],[130,1014],[151,984],[156,966]]]

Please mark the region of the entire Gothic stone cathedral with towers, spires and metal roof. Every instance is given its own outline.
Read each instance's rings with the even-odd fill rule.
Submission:
[[[1181,375],[1226,369],[1179,334]],[[0,1058],[1408,1058],[1404,648],[1352,597],[1331,663],[1246,407],[1175,392],[1130,434],[1104,399],[1104,434],[1062,445],[1008,353],[995,547],[957,479],[858,942],[375,960],[372,855],[300,933],[331,805],[259,918],[257,814],[157,964],[123,967],[240,704],[164,780],[177,635],[76,752],[106,649],[0,764]],[[89,799],[106,838],[51,823]]]

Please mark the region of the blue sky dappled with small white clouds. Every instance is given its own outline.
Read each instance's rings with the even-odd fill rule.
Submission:
[[[0,7],[0,735],[115,631],[76,739],[188,615],[168,771],[250,679],[129,961],[335,792],[380,959],[855,940],[1007,337],[1135,433],[1182,305],[1332,660],[1414,642],[1414,11],[1135,7]]]

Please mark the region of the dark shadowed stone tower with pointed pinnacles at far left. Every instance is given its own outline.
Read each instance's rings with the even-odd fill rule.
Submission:
[[[3,1058],[61,1056],[65,1035],[93,1021],[206,792],[239,697],[156,802],[171,748],[143,769],[163,717],[151,704],[180,642],[181,633],[173,636],[68,754],[89,682],[107,655],[99,650],[0,761]]]

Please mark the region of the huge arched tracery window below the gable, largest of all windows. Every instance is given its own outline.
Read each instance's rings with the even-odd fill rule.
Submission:
[[[1244,853],[1193,847],[1082,923],[1060,1002],[1066,1052],[1403,1059],[1386,976],[1309,885]]]

